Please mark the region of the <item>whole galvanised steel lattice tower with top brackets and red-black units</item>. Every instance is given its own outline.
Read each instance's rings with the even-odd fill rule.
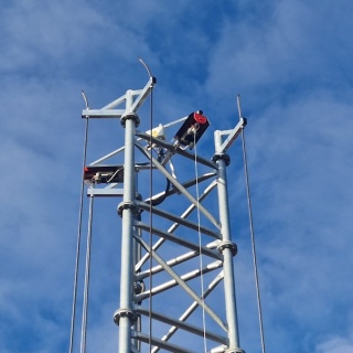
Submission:
[[[127,90],[101,109],[90,109],[86,101],[82,113],[87,121],[119,119],[125,129],[124,146],[84,171],[90,199],[120,197],[120,302],[114,313],[118,352],[244,353],[226,152],[246,120],[240,117],[235,128],[215,131],[213,156],[201,157],[196,143],[210,125],[201,110],[157,127],[148,126],[148,117],[140,119],[138,110],[154,84],[150,75],[142,89]],[[138,130],[140,120],[145,131]],[[111,158],[120,162],[110,163]]]

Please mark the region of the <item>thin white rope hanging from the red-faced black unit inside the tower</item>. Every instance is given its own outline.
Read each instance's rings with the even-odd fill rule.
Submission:
[[[200,195],[199,195],[199,171],[197,171],[197,148],[196,148],[196,130],[194,131],[194,149],[195,149],[195,179],[196,179],[196,200],[197,200],[197,206],[196,206],[196,213],[197,213],[197,234],[199,234],[199,252],[200,252],[200,281],[201,281],[201,299],[203,302],[202,306],[202,328],[203,328],[203,347],[204,347],[204,352],[207,352],[207,341],[206,341],[206,319],[205,319],[205,307],[204,307],[204,280],[203,280],[203,260],[202,260],[202,236],[201,236],[201,221],[200,221],[200,207],[199,207],[199,203],[200,203]]]

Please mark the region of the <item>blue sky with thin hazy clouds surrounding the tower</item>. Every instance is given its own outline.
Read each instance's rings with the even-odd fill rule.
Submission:
[[[347,0],[3,3],[0,351],[68,347],[81,89],[99,108],[142,87],[141,56],[158,78],[157,122],[203,109],[212,129],[228,129],[242,95],[267,351],[352,352],[352,14]],[[109,124],[90,126],[92,160],[120,146]],[[257,353],[239,152],[228,169],[239,330]],[[105,233],[118,226],[116,204],[95,222],[109,235],[95,243],[88,352],[116,352],[119,243]]]

